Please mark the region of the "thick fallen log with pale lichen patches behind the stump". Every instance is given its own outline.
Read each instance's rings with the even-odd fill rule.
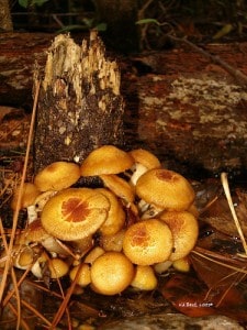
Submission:
[[[47,34],[0,34],[2,106],[32,108],[34,63],[45,65],[53,40]],[[78,40],[80,44],[81,35]],[[247,43],[203,50],[247,75]],[[114,55],[122,74],[126,148],[146,147],[165,166],[194,177],[245,172],[245,86],[188,45],[128,58]]]

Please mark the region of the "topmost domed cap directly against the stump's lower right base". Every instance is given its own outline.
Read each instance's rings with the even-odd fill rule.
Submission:
[[[117,174],[132,167],[134,160],[114,145],[103,145],[93,150],[80,166],[82,176]]]

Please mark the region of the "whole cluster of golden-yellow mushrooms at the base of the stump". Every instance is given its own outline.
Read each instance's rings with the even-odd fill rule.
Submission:
[[[102,185],[81,187],[81,177]],[[24,184],[27,227],[13,264],[41,279],[69,276],[102,295],[155,289],[168,267],[189,270],[199,233],[194,198],[183,176],[143,148],[103,145],[80,165],[55,162]]]

